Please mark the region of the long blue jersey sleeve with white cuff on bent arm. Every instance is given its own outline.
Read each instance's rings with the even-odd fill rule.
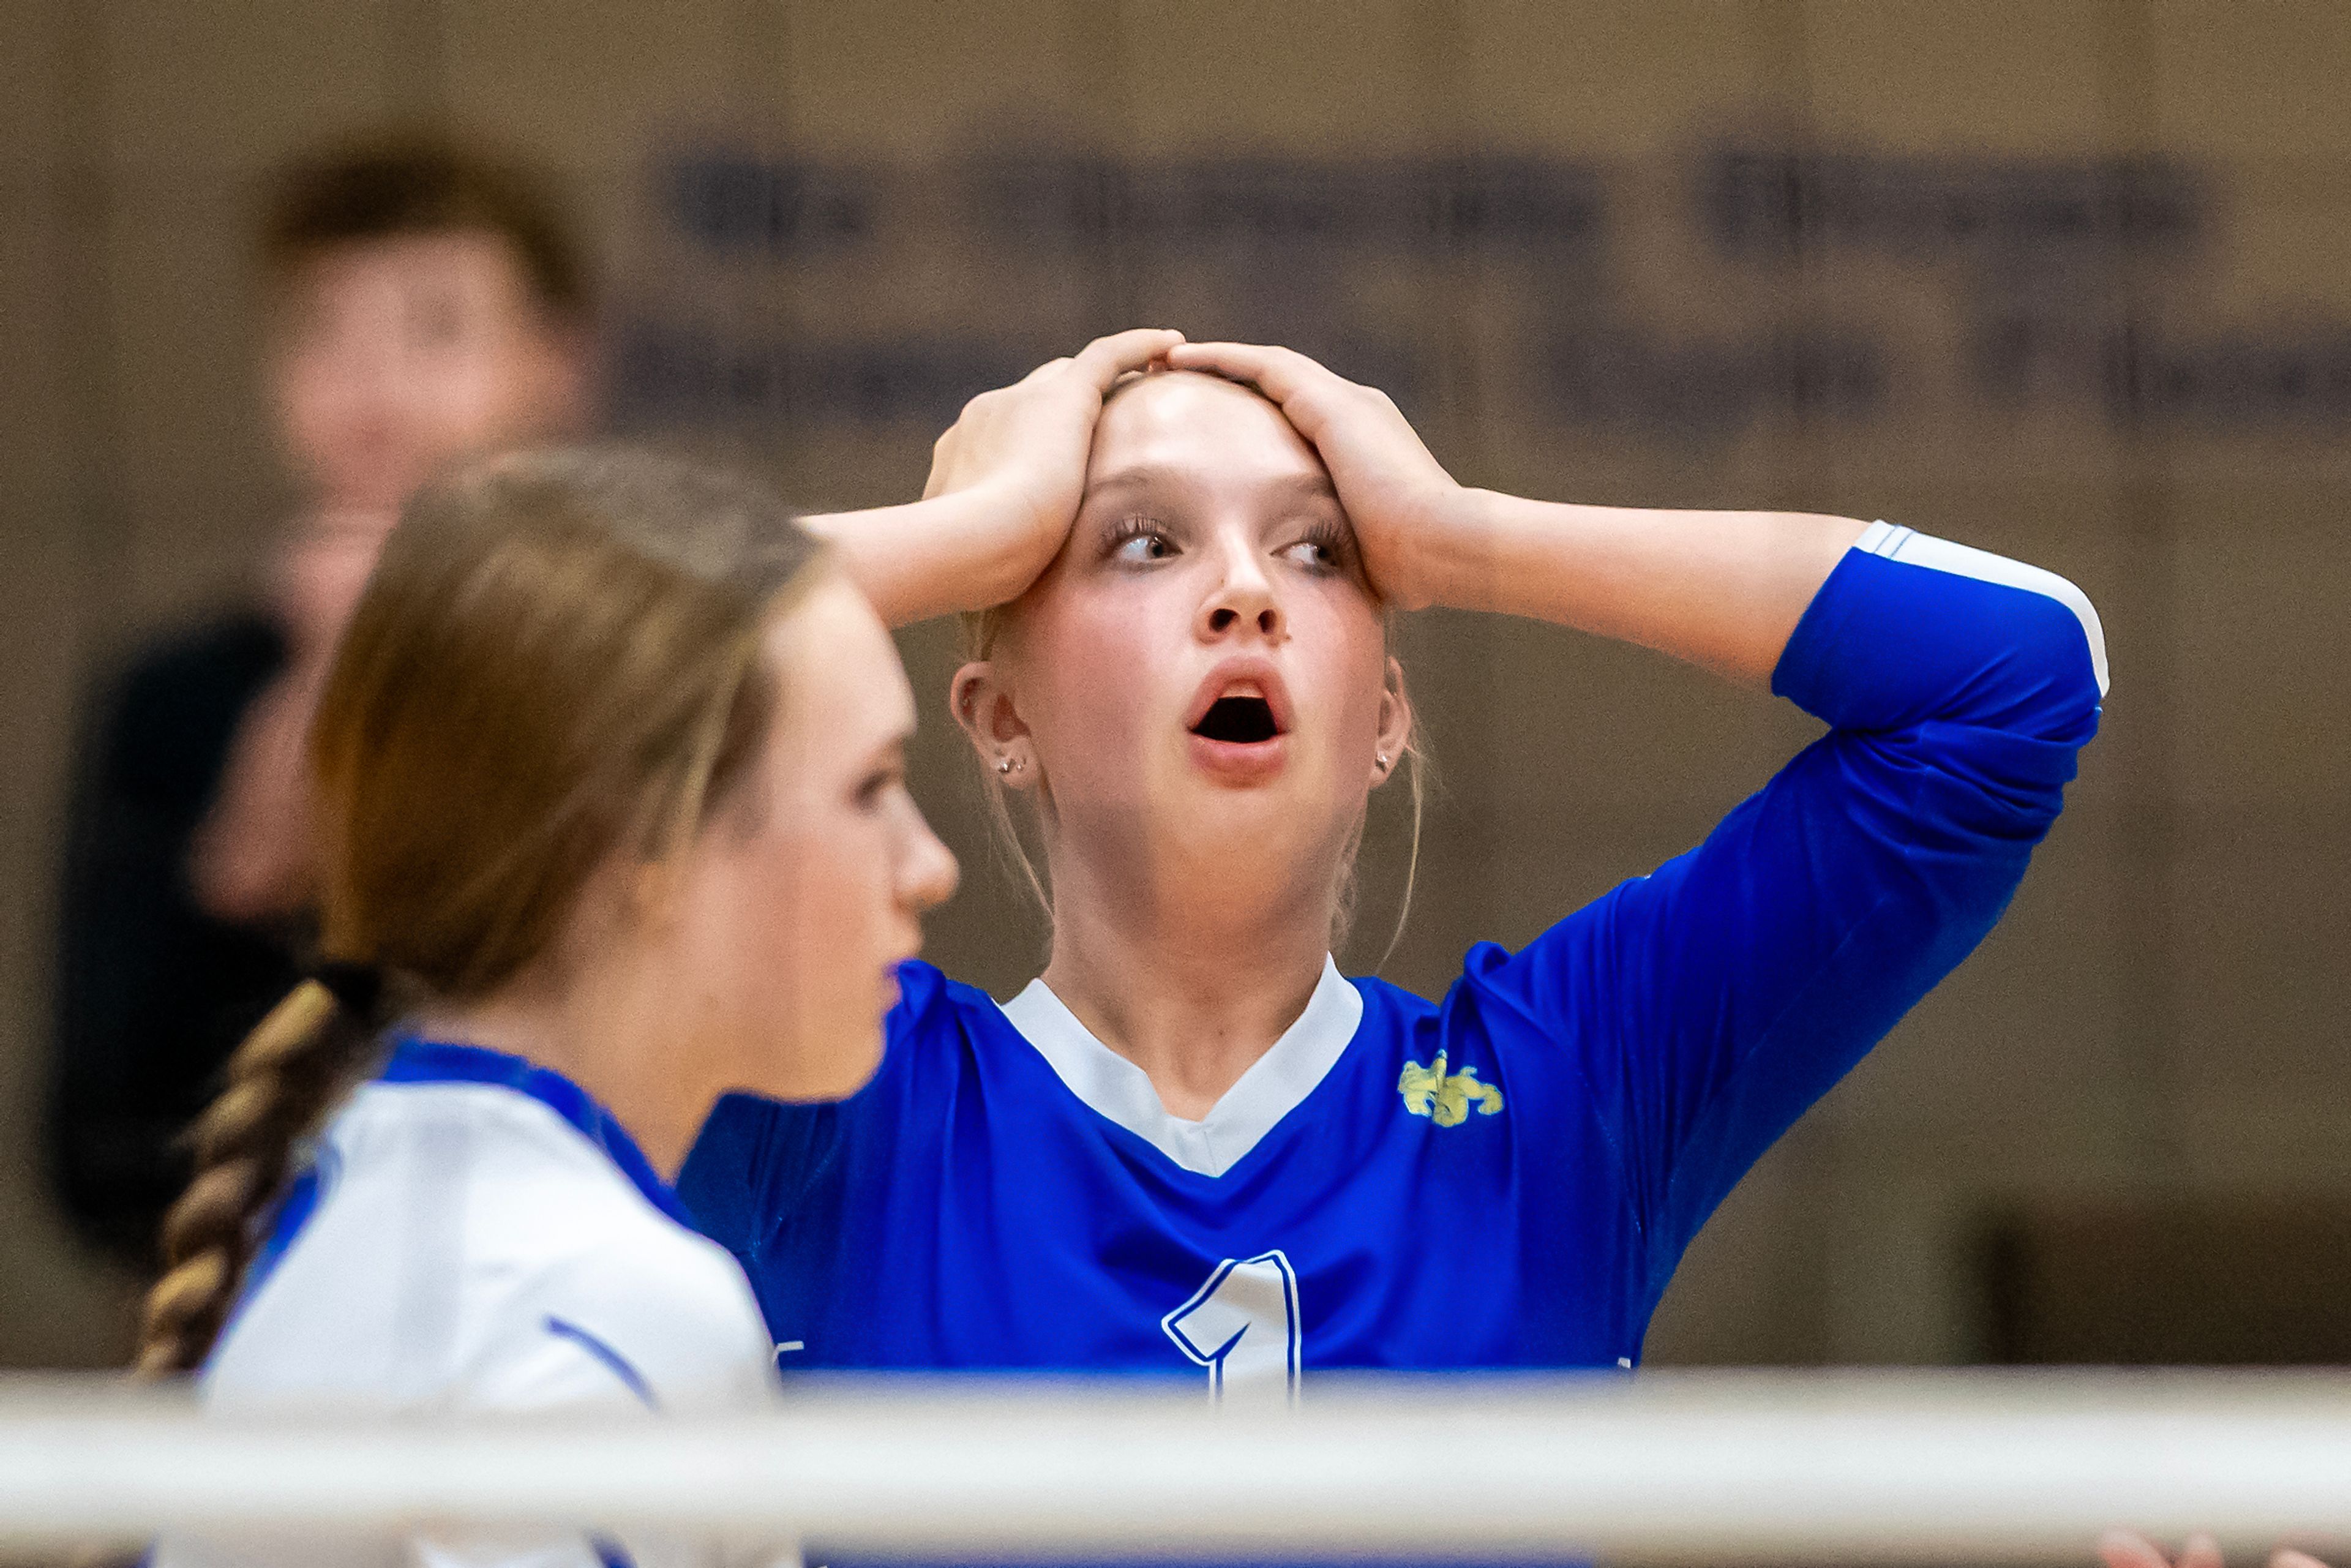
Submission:
[[[1568,1053],[1650,1305],[1740,1175],[1998,922],[2097,729],[2104,642],[2064,578],[1876,524],[1773,691],[1829,733],[1697,849],[1519,954],[1472,950],[1462,983]]]

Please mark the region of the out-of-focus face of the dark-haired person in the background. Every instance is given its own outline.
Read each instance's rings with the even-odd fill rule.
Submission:
[[[268,362],[287,463],[327,510],[393,512],[447,463],[578,418],[581,362],[487,233],[355,240],[287,280]]]

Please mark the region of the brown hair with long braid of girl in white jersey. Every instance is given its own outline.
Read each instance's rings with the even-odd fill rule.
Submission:
[[[374,983],[487,997],[597,867],[691,839],[764,741],[762,635],[816,557],[757,484],[642,451],[494,458],[409,505],[310,726],[334,990],[277,1004],[193,1128],[143,1373],[212,1349],[296,1145],[369,1067]]]

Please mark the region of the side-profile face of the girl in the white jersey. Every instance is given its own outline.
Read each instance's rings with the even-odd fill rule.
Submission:
[[[839,576],[766,635],[783,693],[766,745],[686,853],[668,973],[719,1084],[778,1100],[856,1093],[882,1060],[896,966],[955,891],[905,790],[915,698],[889,632]]]

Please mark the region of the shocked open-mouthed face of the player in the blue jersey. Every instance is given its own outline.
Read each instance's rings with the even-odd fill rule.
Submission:
[[[983,757],[1044,790],[1056,879],[1074,853],[1201,898],[1328,893],[1408,726],[1328,473],[1199,374],[1110,400],[1067,545],[962,679]]]

